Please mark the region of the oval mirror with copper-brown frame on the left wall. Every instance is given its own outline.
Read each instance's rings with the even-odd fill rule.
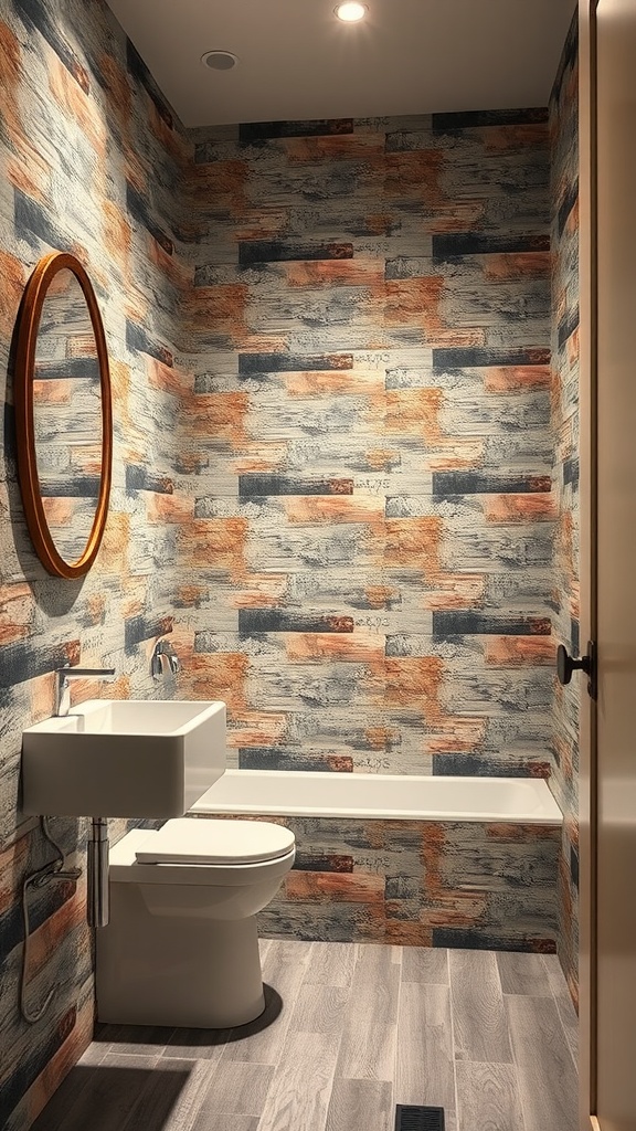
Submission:
[[[50,573],[80,577],[106,521],[112,409],[102,319],[75,256],[44,256],[26,285],[15,399],[18,474],[35,550]]]

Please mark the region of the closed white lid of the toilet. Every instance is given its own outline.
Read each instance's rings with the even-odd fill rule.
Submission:
[[[269,821],[166,821],[137,848],[139,864],[255,864],[286,856],[294,846],[291,829]]]

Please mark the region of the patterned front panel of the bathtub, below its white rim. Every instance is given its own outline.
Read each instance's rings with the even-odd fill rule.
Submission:
[[[508,821],[250,819],[284,824],[296,838],[293,870],[258,916],[265,936],[556,950],[559,828]]]

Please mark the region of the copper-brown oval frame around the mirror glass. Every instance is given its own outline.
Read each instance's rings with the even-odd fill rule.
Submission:
[[[75,562],[66,561],[60,554],[51,535],[44,512],[37,474],[33,404],[35,351],[42,307],[44,305],[51,280],[65,268],[71,271],[79,283],[91,316],[91,323],[97,347],[102,404],[102,474],[100,494],[86,546]],[[43,256],[26,284],[18,314],[14,397],[18,478],[28,532],[35,551],[45,569],[55,577],[68,579],[83,577],[84,573],[88,572],[97,556],[109,512],[112,475],[112,403],[106,338],[95,292],[79,260],[68,252],[52,251],[48,256]]]

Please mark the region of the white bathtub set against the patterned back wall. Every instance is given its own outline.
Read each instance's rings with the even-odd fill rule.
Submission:
[[[192,813],[560,824],[542,778],[225,770]]]

